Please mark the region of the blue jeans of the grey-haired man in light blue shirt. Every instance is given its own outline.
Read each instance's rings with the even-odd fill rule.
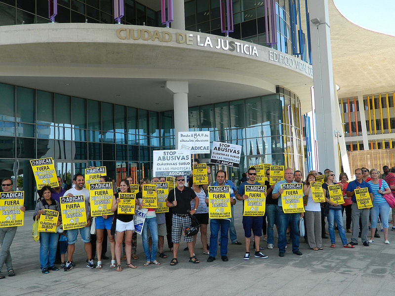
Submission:
[[[282,207],[276,206],[276,222],[278,230],[278,251],[285,253],[285,246],[287,244],[286,231],[288,224],[290,224],[290,237],[292,239],[292,253],[299,251],[299,219],[300,214],[285,214]]]

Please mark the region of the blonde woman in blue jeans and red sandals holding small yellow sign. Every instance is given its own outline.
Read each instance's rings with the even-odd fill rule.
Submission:
[[[343,226],[342,207],[341,207],[341,205],[330,200],[328,186],[335,185],[336,183],[334,183],[334,180],[335,180],[335,174],[332,171],[327,171],[325,173],[325,177],[324,177],[324,184],[322,184],[322,189],[324,191],[325,201],[327,203],[329,203],[329,214],[328,214],[327,219],[328,219],[329,237],[330,237],[330,242],[331,242],[330,247],[336,248],[335,229],[334,229],[334,224],[336,221],[337,229],[339,230],[339,235],[340,235],[340,239],[342,241],[343,247],[344,248],[354,248],[353,245],[347,243],[346,231],[344,230],[344,226]],[[343,185],[340,185],[340,187],[342,188]]]

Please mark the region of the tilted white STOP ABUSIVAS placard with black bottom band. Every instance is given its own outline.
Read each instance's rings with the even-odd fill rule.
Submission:
[[[210,163],[238,168],[240,155],[240,145],[213,142]]]

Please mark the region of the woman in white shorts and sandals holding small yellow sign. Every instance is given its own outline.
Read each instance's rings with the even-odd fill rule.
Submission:
[[[120,192],[131,192],[129,182],[123,179],[120,182]],[[114,195],[113,204],[111,211],[114,212],[114,219],[116,219],[116,237],[115,237],[115,257],[117,259],[117,271],[122,271],[120,267],[120,248],[122,247],[123,234],[125,233],[125,251],[126,251],[126,267],[137,268],[130,262],[132,256],[132,234],[134,230],[133,215],[118,215],[118,203],[120,198],[118,193]],[[136,199],[136,205],[139,205],[139,201]]]

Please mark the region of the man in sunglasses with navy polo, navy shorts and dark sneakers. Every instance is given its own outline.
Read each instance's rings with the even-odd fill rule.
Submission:
[[[248,195],[245,193],[245,185],[261,185],[255,181],[256,178],[256,169],[254,167],[250,167],[247,172],[248,181],[240,184],[237,190],[236,198],[238,200],[246,200]],[[265,192],[266,196],[266,192]],[[243,203],[244,209],[244,203]],[[244,212],[244,211],[243,211]],[[244,260],[250,259],[250,241],[251,241],[251,229],[254,233],[254,242],[255,242],[255,255],[256,258],[265,259],[268,258],[266,255],[259,252],[259,242],[262,236],[262,224],[263,224],[263,216],[243,216],[243,228],[244,228],[244,243],[245,243],[245,255]]]

